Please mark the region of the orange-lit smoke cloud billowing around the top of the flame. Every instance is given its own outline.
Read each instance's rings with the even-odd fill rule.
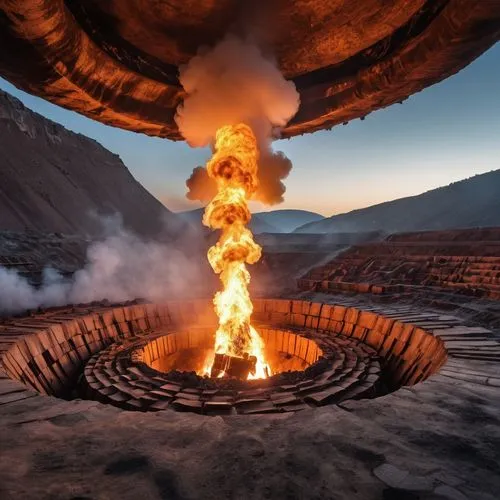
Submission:
[[[182,66],[180,82],[188,96],[175,119],[186,141],[195,147],[207,146],[224,125],[250,125],[260,154],[260,187],[254,199],[269,205],[282,202],[282,180],[292,164],[282,152],[271,149],[271,140],[297,112],[295,85],[254,43],[235,36],[200,51]],[[203,167],[193,170],[186,185],[191,200],[209,201],[217,191]]]

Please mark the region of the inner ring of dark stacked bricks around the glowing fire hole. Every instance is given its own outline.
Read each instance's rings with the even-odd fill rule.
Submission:
[[[268,378],[247,380],[244,363],[230,375],[224,370],[224,377],[217,376],[220,368],[204,375],[214,331],[191,328],[138,336],[95,355],[85,368],[83,394],[124,409],[206,414],[298,411],[375,395],[379,359],[359,341],[307,329],[261,327],[259,334],[273,374]]]

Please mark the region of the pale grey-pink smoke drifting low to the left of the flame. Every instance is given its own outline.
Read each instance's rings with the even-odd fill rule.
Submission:
[[[206,270],[199,262],[204,261],[190,258],[186,249],[143,241],[116,227],[104,240],[88,247],[87,264],[71,280],[46,268],[42,285],[36,288],[16,271],[0,267],[0,314],[104,299],[161,301],[193,296],[206,283],[202,278]]]

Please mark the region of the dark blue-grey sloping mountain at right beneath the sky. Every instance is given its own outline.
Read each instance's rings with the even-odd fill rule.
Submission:
[[[500,170],[418,196],[388,201],[305,224],[298,233],[441,230],[500,226]]]

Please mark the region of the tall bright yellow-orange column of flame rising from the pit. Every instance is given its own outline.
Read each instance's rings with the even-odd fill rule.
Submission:
[[[217,184],[217,194],[205,209],[203,224],[221,230],[219,241],[208,250],[210,265],[223,285],[214,297],[219,317],[215,353],[255,356],[256,371],[248,378],[266,378],[271,371],[265,360],[264,343],[250,324],[253,305],[246,268],[246,264],[257,262],[262,252],[246,227],[252,217],[247,200],[258,188],[257,141],[247,125],[228,125],[217,131],[214,150],[207,172]],[[212,362],[213,358],[207,360],[205,373],[210,372]]]

